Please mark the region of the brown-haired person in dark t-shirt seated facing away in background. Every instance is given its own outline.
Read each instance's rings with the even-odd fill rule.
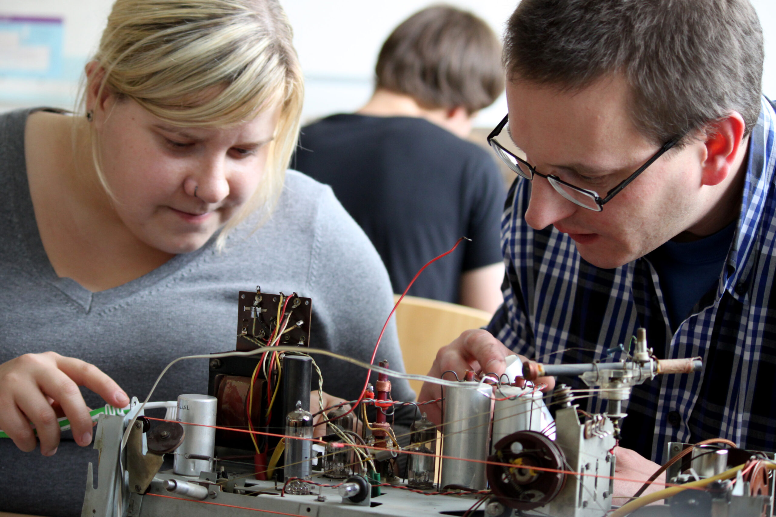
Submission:
[[[469,12],[435,6],[393,30],[376,89],[355,114],[302,129],[292,167],[330,184],[402,292],[487,312],[501,304],[499,245],[505,192],[487,151],[463,140],[473,116],[504,89],[501,45]]]

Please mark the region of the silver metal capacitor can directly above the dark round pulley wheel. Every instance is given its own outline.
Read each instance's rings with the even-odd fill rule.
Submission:
[[[492,445],[518,431],[542,433],[553,427],[550,426],[553,417],[542,400],[541,391],[533,387],[502,386],[496,395],[496,398],[510,398],[494,403]]]

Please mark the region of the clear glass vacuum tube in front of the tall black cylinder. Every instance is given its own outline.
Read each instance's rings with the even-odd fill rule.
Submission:
[[[310,479],[313,452],[313,415],[302,408],[302,402],[296,402],[296,409],[286,417],[286,480],[296,477],[297,481],[286,484],[286,493],[306,495],[310,493]]]

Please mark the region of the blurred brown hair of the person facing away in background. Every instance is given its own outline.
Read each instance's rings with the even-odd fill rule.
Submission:
[[[436,5],[404,20],[380,49],[377,88],[410,95],[424,108],[469,114],[504,90],[501,43],[470,12]]]

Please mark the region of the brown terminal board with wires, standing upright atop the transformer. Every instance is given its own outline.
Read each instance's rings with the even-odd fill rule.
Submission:
[[[310,346],[310,317],[313,311],[313,301],[310,298],[282,295],[282,303],[286,303],[286,315],[291,317],[286,326],[286,332],[280,337],[278,345]],[[256,291],[240,291],[237,308],[237,350],[255,350],[258,345],[268,344],[272,333],[278,325],[278,308],[282,312],[281,294],[262,293]],[[283,317],[285,319],[285,316]],[[280,322],[282,326],[282,321]]]

